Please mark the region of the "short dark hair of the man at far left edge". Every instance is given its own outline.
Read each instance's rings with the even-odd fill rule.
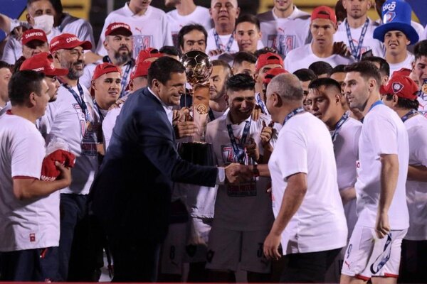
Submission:
[[[28,101],[32,92],[40,94],[41,81],[45,78],[42,72],[33,70],[18,71],[12,75],[8,84],[11,105],[22,105]]]

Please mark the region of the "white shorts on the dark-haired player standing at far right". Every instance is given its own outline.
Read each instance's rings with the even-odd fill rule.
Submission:
[[[392,230],[378,239],[374,228],[356,225],[345,251],[341,273],[362,280],[373,276],[397,278],[406,231]]]

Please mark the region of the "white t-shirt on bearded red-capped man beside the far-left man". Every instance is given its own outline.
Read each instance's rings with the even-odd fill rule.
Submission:
[[[48,142],[57,137],[67,141],[70,151],[76,157],[74,168],[71,169],[71,185],[60,192],[87,195],[98,168],[97,143],[102,141],[98,141],[101,127],[99,114],[93,107],[88,89],[83,86],[82,88],[88,107],[88,118],[85,118],[73,94],[61,85],[58,89],[58,99],[48,104],[46,121],[49,124]],[[79,94],[77,87],[73,89]]]

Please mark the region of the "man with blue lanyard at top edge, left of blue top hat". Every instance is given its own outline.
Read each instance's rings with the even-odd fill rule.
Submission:
[[[344,42],[357,60],[360,60],[362,54],[368,50],[372,50],[374,56],[383,57],[382,43],[373,38],[374,29],[379,24],[367,15],[371,8],[371,0],[349,0],[343,1],[342,4],[347,11],[347,18],[339,24],[334,41]]]

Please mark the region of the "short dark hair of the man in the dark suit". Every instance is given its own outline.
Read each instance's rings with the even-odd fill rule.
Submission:
[[[184,73],[185,67],[178,60],[164,56],[152,62],[148,68],[148,86],[152,87],[154,79],[166,84],[171,79],[172,73]]]

